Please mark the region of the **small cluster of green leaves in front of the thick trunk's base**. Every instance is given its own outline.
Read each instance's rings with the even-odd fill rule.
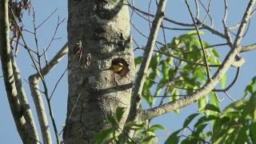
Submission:
[[[140,124],[136,122],[129,122],[125,126],[125,130],[120,130],[118,123],[122,118],[124,108],[118,107],[115,116],[108,116],[106,123],[110,124],[110,128],[102,130],[101,133],[96,134],[94,137],[97,143],[155,143],[154,138],[156,130],[164,130],[161,125],[149,126],[147,122]],[[134,131],[134,138],[130,138],[127,131]],[[122,134],[120,134],[122,131]]]

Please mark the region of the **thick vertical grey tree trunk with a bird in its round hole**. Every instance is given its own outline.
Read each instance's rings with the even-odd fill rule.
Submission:
[[[92,143],[117,107],[130,110],[134,55],[126,0],[69,0],[69,96],[65,143]],[[114,73],[114,64],[125,66]],[[127,68],[126,68],[127,66]]]

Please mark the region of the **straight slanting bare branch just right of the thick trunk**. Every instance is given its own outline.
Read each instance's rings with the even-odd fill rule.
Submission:
[[[142,64],[140,66],[140,69],[138,70],[138,75],[135,80],[131,111],[138,110],[141,103],[142,89],[143,89],[144,82],[146,80],[146,74],[147,74],[148,68],[150,66],[150,60],[152,58],[154,45],[158,37],[158,30],[161,25],[162,19],[164,17],[165,7],[166,7],[166,0],[161,0],[158,4],[158,10],[154,18],[154,21],[152,23],[152,27],[150,30],[150,37],[148,38],[148,41],[146,43],[146,50],[145,50],[144,57],[142,58]]]

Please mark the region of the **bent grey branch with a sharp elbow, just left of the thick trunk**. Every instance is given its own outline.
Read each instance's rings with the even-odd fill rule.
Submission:
[[[50,72],[50,70],[52,70],[54,68],[54,66],[56,66],[58,64],[58,62],[63,58],[63,56],[65,56],[67,54],[67,52],[68,52],[68,47],[67,47],[67,43],[66,43],[65,46],[63,46],[62,49],[59,50],[58,53],[54,56],[54,58],[49,62],[49,64],[42,68],[42,73],[41,73],[42,76],[48,74]],[[38,119],[39,119],[39,123],[40,123],[41,129],[42,129],[42,132],[46,133],[45,136],[50,137],[50,135],[49,135],[50,133],[48,133],[48,131],[50,131],[50,128],[49,128],[49,124],[47,121],[47,116],[46,116],[46,112],[45,112],[46,110],[45,110],[45,106],[44,106],[43,100],[42,100],[42,95],[41,95],[41,92],[39,89],[40,80],[42,80],[42,78],[39,73],[30,75],[30,78],[29,78],[30,90],[31,90],[31,94],[34,99],[34,103],[35,103],[37,112],[38,112]],[[57,127],[54,122],[54,117],[53,117],[51,106],[50,106],[48,99],[47,99],[47,103],[48,103],[48,107],[50,110],[50,118],[51,118],[51,120],[53,122],[53,126],[54,126],[55,136],[56,136],[56,138],[58,138],[58,130],[57,130]]]

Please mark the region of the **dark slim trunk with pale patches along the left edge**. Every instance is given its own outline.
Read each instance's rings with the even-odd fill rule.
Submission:
[[[22,138],[23,143],[36,143],[38,142],[38,134],[34,133],[33,130],[28,130],[31,128],[29,119],[26,119],[27,117],[25,116],[28,113],[27,111],[22,111],[23,107],[18,99],[18,90],[17,86],[15,85],[14,70],[11,62],[12,54],[10,50],[7,0],[0,2],[0,55],[2,62],[2,74],[6,86],[6,94],[18,134]]]

